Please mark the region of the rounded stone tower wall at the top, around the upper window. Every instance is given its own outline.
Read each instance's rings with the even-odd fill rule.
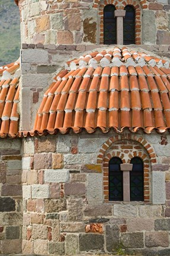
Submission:
[[[123,1],[20,0],[21,42],[43,44],[102,43],[102,9],[124,8]],[[136,43],[169,44],[169,0],[127,1],[136,8]],[[141,11],[140,11],[141,10]],[[141,26],[142,24],[142,26]]]

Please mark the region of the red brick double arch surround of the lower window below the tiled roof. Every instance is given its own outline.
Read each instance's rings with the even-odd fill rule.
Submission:
[[[133,140],[134,142],[137,142],[140,146],[137,148],[137,146],[134,146],[135,150],[128,150],[128,146],[126,148],[126,145],[123,146],[124,141]],[[123,151],[112,149],[110,152],[107,152],[108,149],[113,146],[115,142],[122,142],[121,147],[124,147],[126,149],[126,157],[123,154]],[[142,148],[145,149],[146,153],[142,152]],[[154,149],[150,145],[149,142],[147,142],[142,137],[136,136],[136,135],[130,135],[130,134],[124,134],[124,135],[116,135],[113,137],[110,137],[100,149],[100,154],[97,158],[97,163],[102,165],[102,171],[103,171],[103,187],[104,187],[104,201],[108,201],[109,196],[109,188],[108,188],[108,165],[111,158],[114,156],[117,156],[122,160],[123,163],[130,163],[131,159],[134,157],[139,157],[143,161],[143,171],[144,171],[144,202],[149,203],[150,202],[150,167],[152,168],[152,164],[156,164],[156,154],[154,152]],[[151,166],[150,166],[151,165]]]

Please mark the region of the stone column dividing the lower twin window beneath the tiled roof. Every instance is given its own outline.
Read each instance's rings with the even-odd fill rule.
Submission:
[[[123,171],[123,201],[130,201],[130,171],[133,164],[121,164],[120,169]]]

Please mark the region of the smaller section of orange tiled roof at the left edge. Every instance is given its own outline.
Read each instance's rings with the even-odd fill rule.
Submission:
[[[0,68],[0,137],[16,137],[18,134],[19,114],[19,62]]]

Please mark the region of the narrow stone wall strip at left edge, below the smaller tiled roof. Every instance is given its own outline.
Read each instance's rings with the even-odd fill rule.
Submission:
[[[18,254],[22,244],[21,141],[0,142],[0,254]]]

